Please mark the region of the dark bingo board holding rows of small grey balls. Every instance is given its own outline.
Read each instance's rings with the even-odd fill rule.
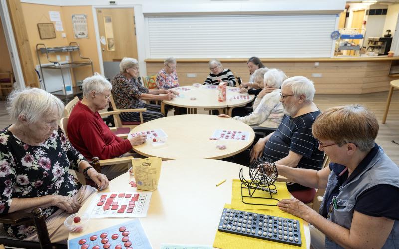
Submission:
[[[218,230],[294,246],[302,244],[299,221],[284,217],[223,209]]]

